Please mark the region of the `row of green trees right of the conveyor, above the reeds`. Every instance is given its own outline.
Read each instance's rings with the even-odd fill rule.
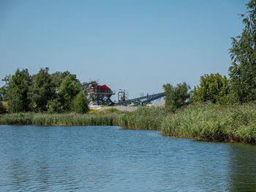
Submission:
[[[243,104],[256,101],[256,1],[246,4],[248,11],[241,14],[244,24],[238,37],[233,37],[230,48],[230,78],[220,74],[205,74],[200,85],[193,90],[186,82],[176,86],[163,85],[165,107],[176,110],[184,104],[206,102],[219,104]]]

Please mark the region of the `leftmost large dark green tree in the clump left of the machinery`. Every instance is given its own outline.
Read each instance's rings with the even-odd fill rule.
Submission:
[[[19,69],[7,82],[7,99],[9,112],[23,112],[29,110],[28,92],[31,77],[28,69]]]

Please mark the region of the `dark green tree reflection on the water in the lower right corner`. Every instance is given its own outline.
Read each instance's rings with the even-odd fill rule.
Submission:
[[[256,146],[229,144],[230,191],[256,191]]]

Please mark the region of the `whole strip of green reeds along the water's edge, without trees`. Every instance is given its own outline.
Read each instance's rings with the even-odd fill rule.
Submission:
[[[135,112],[110,109],[89,114],[20,112],[0,115],[0,124],[34,126],[120,126],[159,130],[163,136],[255,145],[256,104],[190,104],[176,112],[140,107]]]

